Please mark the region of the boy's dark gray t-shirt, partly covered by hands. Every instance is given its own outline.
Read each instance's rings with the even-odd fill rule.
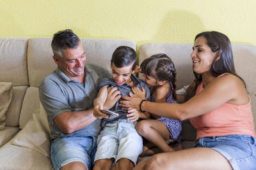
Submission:
[[[141,90],[141,87],[145,89],[146,98],[150,99],[150,90],[148,89],[145,81],[141,80],[140,78],[137,78],[133,74],[131,74],[131,79],[134,82],[134,85],[139,87],[140,90]],[[109,87],[117,87],[117,89],[121,92],[122,96],[129,96],[129,92],[132,92],[130,85],[126,83],[124,85],[117,85],[115,83],[115,80],[113,80],[113,78],[104,78],[102,81],[100,81],[98,90],[106,85],[109,85]],[[127,110],[122,110],[122,107],[120,106],[120,103],[119,103],[120,100],[123,100],[123,99],[120,98],[115,103],[115,105],[110,109],[111,111],[118,112],[119,116],[116,117],[116,116],[110,115],[109,118],[103,118],[101,122],[102,127],[104,127],[108,122],[113,122],[119,119],[127,119],[126,115],[128,112]]]

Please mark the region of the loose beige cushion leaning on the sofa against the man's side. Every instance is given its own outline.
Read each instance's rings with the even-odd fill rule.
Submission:
[[[15,136],[12,144],[31,148],[50,158],[50,127],[42,104],[35,110],[28,124]]]

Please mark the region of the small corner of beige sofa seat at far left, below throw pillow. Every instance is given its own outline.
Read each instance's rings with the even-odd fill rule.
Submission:
[[[0,131],[0,147],[8,143],[8,141],[10,141],[19,131],[19,127],[4,127],[4,129]]]

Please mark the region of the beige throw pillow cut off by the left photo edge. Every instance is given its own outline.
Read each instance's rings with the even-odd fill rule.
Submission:
[[[12,101],[13,85],[12,83],[0,82],[0,131],[4,129],[5,113]]]

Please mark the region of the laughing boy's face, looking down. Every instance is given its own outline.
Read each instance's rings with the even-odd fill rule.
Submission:
[[[110,67],[112,69],[112,78],[117,85],[124,85],[124,83],[128,84],[131,82],[132,64],[130,66],[118,68],[113,63]]]

